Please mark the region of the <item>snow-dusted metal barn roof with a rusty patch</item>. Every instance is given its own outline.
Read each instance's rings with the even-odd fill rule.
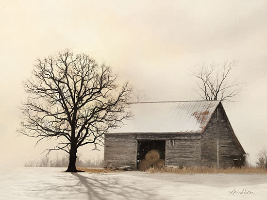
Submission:
[[[202,133],[219,100],[130,103],[134,117],[112,133]]]

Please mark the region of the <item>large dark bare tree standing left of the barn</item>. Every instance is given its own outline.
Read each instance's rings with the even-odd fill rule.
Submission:
[[[86,54],[70,50],[37,59],[33,76],[24,82],[28,99],[22,105],[24,120],[18,133],[59,140],[51,150],[69,154],[67,172],[77,171],[77,149],[94,144],[111,128],[117,128],[132,114],[126,103],[131,94],[128,83],[119,86],[111,67],[99,65]]]

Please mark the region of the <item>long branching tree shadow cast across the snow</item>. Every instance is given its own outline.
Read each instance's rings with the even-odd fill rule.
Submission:
[[[133,200],[146,199],[156,200],[157,196],[146,189],[136,188],[136,183],[131,180],[120,182],[114,175],[70,173],[71,176],[57,176],[54,181],[39,181],[40,186],[32,187],[31,196],[36,192],[54,194],[54,199],[76,199],[88,200]],[[69,174],[69,175],[70,175]],[[99,176],[98,176],[99,175]],[[91,177],[90,177],[91,176]],[[57,184],[56,184],[57,183]],[[67,195],[69,194],[69,197]]]

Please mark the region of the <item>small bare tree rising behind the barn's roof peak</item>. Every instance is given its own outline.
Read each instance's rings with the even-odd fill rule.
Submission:
[[[229,75],[237,63],[236,60],[227,60],[222,65],[197,65],[193,75],[199,80],[196,92],[200,97],[203,100],[232,101],[241,91],[241,83],[229,81]]]

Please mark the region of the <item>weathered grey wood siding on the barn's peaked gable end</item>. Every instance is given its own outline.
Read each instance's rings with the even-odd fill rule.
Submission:
[[[218,140],[219,167],[232,167],[233,159],[228,156],[240,155],[243,152],[236,142],[223,108],[220,104],[217,108],[205,131],[201,133],[201,166],[217,167],[216,141]]]

